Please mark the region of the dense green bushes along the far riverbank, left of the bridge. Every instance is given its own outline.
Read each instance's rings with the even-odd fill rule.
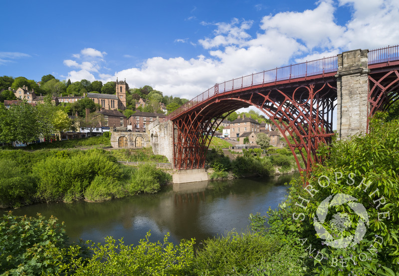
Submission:
[[[155,165],[121,165],[112,152],[103,149],[1,150],[0,167],[2,208],[154,193],[172,179]]]

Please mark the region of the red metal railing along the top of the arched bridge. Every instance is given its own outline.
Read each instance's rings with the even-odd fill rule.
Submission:
[[[399,45],[388,46],[369,51],[368,64],[390,62],[399,60]],[[260,73],[254,73],[241,78],[232,79],[223,83],[215,84],[196,98],[187,102],[166,117],[166,120],[171,120],[177,115],[181,114],[196,106],[203,101],[216,94],[232,91],[235,89],[246,88],[254,85],[261,85],[266,83],[278,81],[291,81],[296,78],[307,78],[315,75],[324,75],[327,73],[337,72],[338,62],[337,56],[325,57],[317,60],[306,61],[298,64],[292,64],[284,67],[279,67]]]

